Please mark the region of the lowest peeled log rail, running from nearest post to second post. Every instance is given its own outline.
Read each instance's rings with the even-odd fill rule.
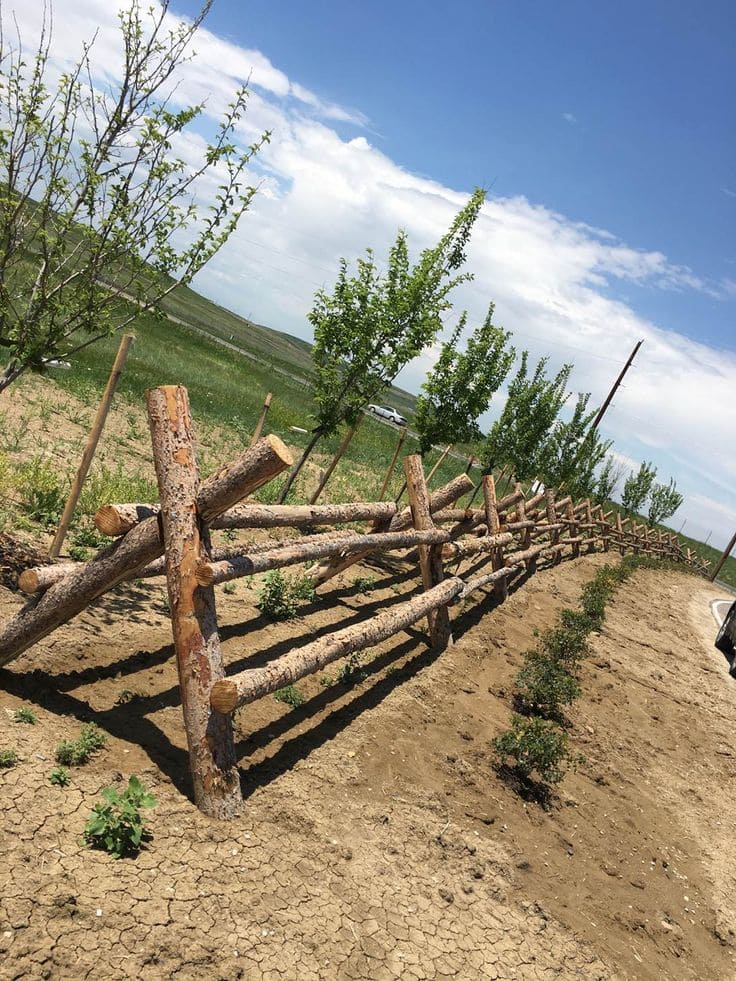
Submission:
[[[400,606],[378,613],[370,620],[336,630],[304,647],[290,651],[262,668],[249,668],[218,681],[212,687],[210,701],[217,712],[234,712],[241,705],[254,702],[263,695],[292,685],[347,654],[373,647],[394,634],[421,620],[431,610],[451,603],[463,591],[462,580],[445,579],[407,600]]]

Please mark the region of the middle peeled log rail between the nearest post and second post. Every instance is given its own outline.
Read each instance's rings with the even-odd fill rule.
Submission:
[[[203,562],[197,568],[197,582],[201,586],[214,586],[242,576],[252,576],[271,569],[280,569],[297,562],[309,562],[328,556],[347,557],[355,552],[363,552],[366,546],[374,551],[390,551],[396,548],[410,548],[412,545],[437,545],[449,541],[449,532],[441,528],[430,531],[398,531],[383,534],[355,535],[351,538],[338,538],[329,541],[307,539],[296,545],[279,548],[261,555],[236,556],[222,562]]]

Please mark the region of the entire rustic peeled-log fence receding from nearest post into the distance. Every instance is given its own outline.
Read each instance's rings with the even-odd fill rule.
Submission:
[[[232,463],[200,482],[187,392],[164,386],[147,393],[159,503],[115,504],[99,509],[97,528],[115,538],[84,564],[60,563],[27,569],[20,588],[26,605],[0,626],[0,666],[77,616],[90,603],[133,578],[166,576],[184,727],[197,806],[229,819],[242,797],[232,730],[232,712],[427,618],[437,650],[452,642],[450,610],[481,589],[503,601],[509,582],[531,575],[540,561],[575,558],[583,550],[618,547],[684,562],[702,563],[669,533],[656,535],[619,514],[603,513],[589,500],[556,500],[551,489],[526,497],[520,484],[500,500],[492,476],[481,483],[483,505],[459,508],[473,490],[462,474],[430,493],[421,458],[404,458],[409,506],[393,502],[325,505],[240,503],[292,466],[287,447],[274,435],[257,440]],[[392,461],[390,470],[396,460]],[[365,523],[369,522],[368,528]],[[213,548],[211,529],[293,528],[361,525],[328,532]],[[335,630],[263,667],[226,676],[213,587],[241,576],[317,561],[309,575],[324,586],[356,562],[400,552],[417,562],[421,589],[409,599],[358,624]],[[473,558],[473,578],[458,575]],[[490,570],[482,565],[488,562]],[[454,563],[454,571],[446,566]],[[479,568],[480,565],[480,568]]]

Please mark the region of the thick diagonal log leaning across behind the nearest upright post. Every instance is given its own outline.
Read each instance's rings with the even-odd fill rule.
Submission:
[[[212,521],[291,465],[291,454],[278,436],[266,436],[201,484],[197,495],[200,517],[204,522]],[[147,518],[78,571],[51,586],[38,602],[30,601],[0,628],[0,667],[163,555],[163,551],[158,518]]]

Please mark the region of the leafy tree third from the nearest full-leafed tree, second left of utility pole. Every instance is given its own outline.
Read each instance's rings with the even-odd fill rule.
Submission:
[[[529,352],[523,351],[519,369],[509,385],[503,412],[491,427],[481,451],[486,473],[510,465],[519,480],[529,480],[543,470],[549,434],[564,405],[571,364],[547,377],[547,358],[529,374]]]

